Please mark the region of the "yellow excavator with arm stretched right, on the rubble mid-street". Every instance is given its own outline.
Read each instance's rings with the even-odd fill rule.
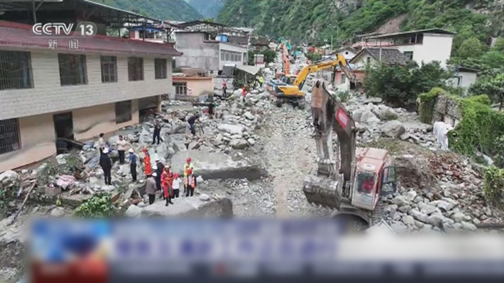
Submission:
[[[336,54],[336,59],[331,61],[323,61],[304,66],[297,75],[286,74],[278,80],[270,80],[266,85],[266,90],[277,97],[276,105],[281,107],[283,103],[289,102],[293,106],[300,109],[304,108],[304,95],[301,91],[303,88],[306,77],[309,74],[319,72],[319,70],[327,69],[330,67],[340,66],[345,75],[351,82],[357,79],[355,74],[348,67],[345,57],[341,54]]]

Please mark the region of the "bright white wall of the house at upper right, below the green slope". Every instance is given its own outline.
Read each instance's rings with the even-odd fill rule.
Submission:
[[[446,61],[452,52],[453,35],[449,34],[423,34],[422,44],[397,45],[399,51],[413,51],[413,60],[421,65],[432,61],[439,61],[446,68]]]

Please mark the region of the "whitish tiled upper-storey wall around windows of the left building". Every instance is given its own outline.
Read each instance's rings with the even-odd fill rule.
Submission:
[[[106,54],[103,54],[106,55]],[[159,56],[161,58],[162,56]],[[32,89],[3,90],[0,119],[89,107],[172,92],[171,58],[167,58],[167,79],[154,78],[154,57],[144,58],[144,80],[128,80],[128,57],[117,56],[117,83],[101,82],[99,54],[86,54],[88,84],[61,86],[58,55],[32,51]]]

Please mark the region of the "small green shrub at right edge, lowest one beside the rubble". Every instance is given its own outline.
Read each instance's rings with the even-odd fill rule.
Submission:
[[[485,169],[483,187],[486,200],[500,209],[504,208],[504,169],[489,166]]]

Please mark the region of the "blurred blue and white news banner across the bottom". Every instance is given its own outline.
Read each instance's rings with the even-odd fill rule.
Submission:
[[[502,279],[501,235],[348,235],[331,219],[37,220],[30,281]]]

